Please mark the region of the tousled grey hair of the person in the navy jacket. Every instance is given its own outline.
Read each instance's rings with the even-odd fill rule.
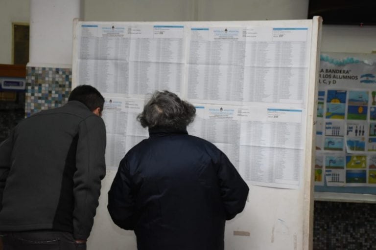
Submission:
[[[137,120],[143,127],[182,128],[193,122],[195,115],[196,108],[192,104],[164,90],[154,92]]]

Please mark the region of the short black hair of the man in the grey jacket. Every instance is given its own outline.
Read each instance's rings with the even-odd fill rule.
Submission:
[[[69,95],[69,101],[78,101],[85,104],[90,111],[94,111],[97,107],[100,112],[103,110],[104,97],[100,92],[91,85],[79,85],[75,87]]]

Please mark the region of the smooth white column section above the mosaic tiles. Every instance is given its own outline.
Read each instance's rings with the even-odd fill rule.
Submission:
[[[27,66],[71,68],[73,19],[82,13],[82,0],[30,0]]]

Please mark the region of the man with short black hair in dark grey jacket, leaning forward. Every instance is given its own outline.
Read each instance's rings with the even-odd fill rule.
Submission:
[[[0,144],[4,250],[86,249],[105,175],[103,104],[94,87],[78,86]]]

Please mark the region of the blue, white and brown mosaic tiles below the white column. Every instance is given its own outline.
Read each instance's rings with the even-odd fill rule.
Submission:
[[[68,102],[71,68],[26,67],[26,116]]]

